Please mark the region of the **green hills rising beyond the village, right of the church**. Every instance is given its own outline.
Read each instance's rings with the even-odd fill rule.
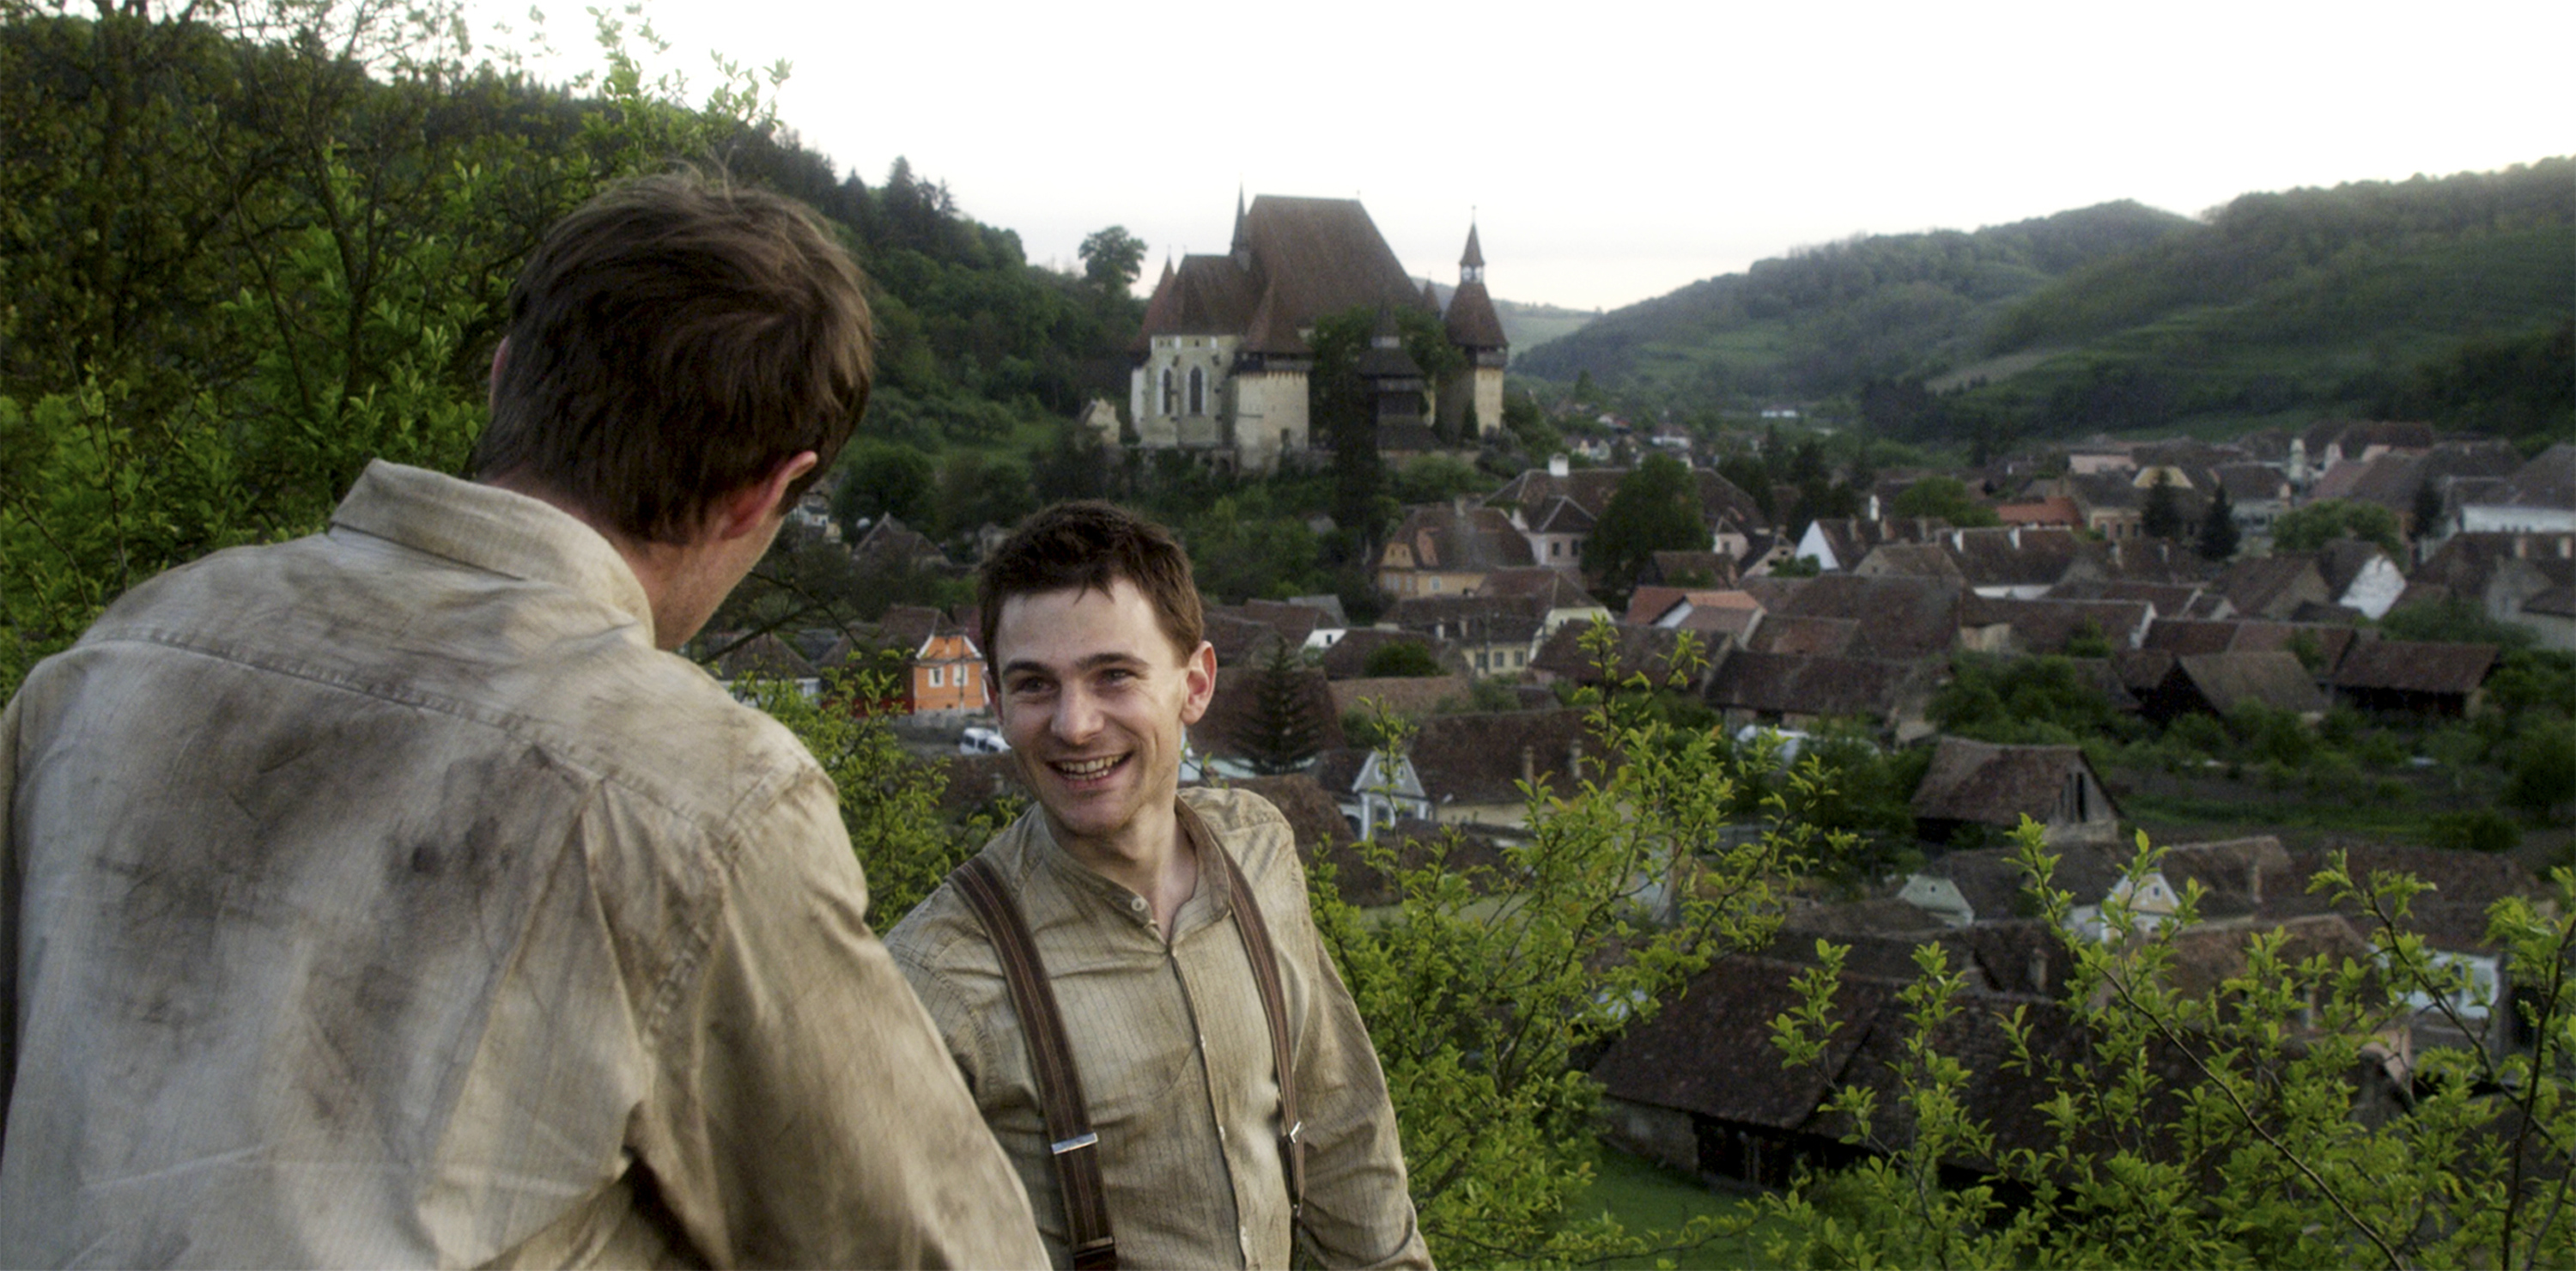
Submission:
[[[1517,369],[1695,405],[1852,394],[1899,436],[2329,412],[2522,433],[2568,423],[2571,278],[2576,160],[2558,157],[2249,193],[2205,222],[2107,204],[1852,240],[1605,315]]]

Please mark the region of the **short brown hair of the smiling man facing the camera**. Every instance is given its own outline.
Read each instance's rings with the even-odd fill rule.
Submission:
[[[984,626],[984,663],[999,668],[992,647],[1002,626],[1002,603],[1012,596],[1048,590],[1097,590],[1128,580],[1154,606],[1162,634],[1188,657],[1206,639],[1208,619],[1198,606],[1190,554],[1172,531],[1100,500],[1056,503],[1010,531],[976,575],[976,603]]]

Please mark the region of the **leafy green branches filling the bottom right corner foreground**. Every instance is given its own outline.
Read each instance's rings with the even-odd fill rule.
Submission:
[[[2050,887],[2056,856],[2022,820],[2020,861],[2048,931],[2074,967],[2053,1005],[1996,1011],[1965,995],[1937,944],[1917,949],[1901,1036],[1886,1039],[1893,1098],[1837,1091],[1862,1163],[1772,1196],[1785,1266],[2568,1266],[2576,1214],[2576,874],[2553,900],[2509,897],[2486,936],[2519,985],[2512,1011],[2530,1047],[2421,1047],[2398,1111],[2370,1114],[2354,1072],[2421,1013],[2463,1036],[2473,980],[2409,931],[2427,887],[2354,877],[2342,853],[2316,874],[2362,920],[2370,959],[2295,956],[2282,931],[2244,933],[2236,969],[2177,987],[2179,941],[2200,920],[2190,887],[2169,920],[2141,895],[2159,853],[2138,835],[2128,892],[2076,931]],[[2205,933],[2200,936],[2205,938]],[[1801,1005],[1775,1024],[1790,1065],[1824,1054],[1844,949],[1821,946]],[[2419,1005],[2421,1003],[2421,1005]],[[1978,1018],[1981,1016],[1981,1018]],[[2476,1024],[2473,1024],[2476,1018]],[[1999,1150],[1971,1109],[1958,1044],[1996,1036],[2027,1075],[2038,1147]],[[1873,1042],[1878,1044],[1878,1042]],[[2014,1109],[2020,1111],[2020,1109]],[[2007,1207],[2004,1196],[2020,1204]],[[1832,1209],[1826,1209],[1832,1207]]]

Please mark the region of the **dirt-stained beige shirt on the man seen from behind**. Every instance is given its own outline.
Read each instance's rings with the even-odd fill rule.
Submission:
[[[0,1266],[1036,1263],[824,773],[376,464],[0,717]]]

